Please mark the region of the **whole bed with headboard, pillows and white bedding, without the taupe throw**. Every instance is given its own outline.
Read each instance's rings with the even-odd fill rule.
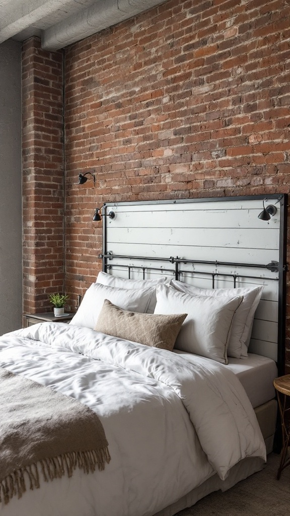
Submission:
[[[231,218],[239,232],[241,220],[243,224],[253,221],[253,214],[256,219],[262,199],[229,198],[232,215],[241,215],[241,219]],[[70,478],[63,475],[40,482],[39,489],[27,489],[7,504],[2,501],[3,516],[173,516],[264,466],[276,426],[272,380],[283,367],[285,249],[281,235],[286,199],[278,195],[270,199],[279,207],[276,219],[269,221],[272,233],[263,235],[271,259],[262,262],[259,249],[258,257],[251,251],[251,263],[248,257],[233,260],[232,255],[240,258],[240,248],[237,251],[229,245],[227,261],[221,255],[223,245],[216,246],[215,260],[208,256],[209,246],[202,255],[206,246],[198,237],[207,239],[206,231],[195,231],[195,248],[186,244],[186,253],[180,238],[175,244],[172,222],[188,228],[189,215],[197,206],[203,211],[203,221],[214,213],[221,224],[221,214],[227,211],[224,200],[199,201],[160,203],[157,209],[152,203],[116,203],[117,217],[109,221],[105,214],[113,206],[106,206],[100,256],[103,272],[89,287],[71,324],[45,322],[0,338],[0,367],[73,397],[96,412],[111,456],[103,471],[85,474],[76,469]],[[144,230],[136,238],[144,227],[144,211],[147,226],[154,231],[156,211],[158,216],[169,217],[169,239],[164,231],[160,241],[159,232],[156,242],[154,231],[148,236]],[[227,233],[225,228],[223,233]],[[247,245],[250,234],[256,239],[250,228],[247,236],[243,234]],[[236,243],[237,234],[232,235]],[[229,232],[224,238],[228,236]],[[161,247],[165,252],[166,246],[172,251],[175,245],[182,255],[174,258],[170,252],[168,259],[160,257]],[[122,246],[130,254],[122,253]],[[249,256],[249,252],[244,254]],[[208,289],[212,289],[209,295]],[[235,292],[229,294],[232,289]],[[245,313],[251,312],[251,317],[247,318],[247,335],[243,333],[244,355],[248,346],[250,352],[248,358],[240,358],[242,348],[237,351],[235,347],[240,320],[234,317],[238,313],[245,317],[247,296],[250,302]],[[191,312],[194,322],[188,319]],[[198,320],[194,319],[197,313]],[[169,314],[174,315],[170,321]],[[181,314],[188,315],[181,320]],[[111,330],[116,317],[118,332]],[[259,334],[263,327],[266,331]],[[136,331],[139,341],[132,338]],[[148,345],[146,339],[155,339],[157,344]],[[143,340],[145,345],[138,343]],[[166,342],[163,349],[161,341]],[[233,357],[227,356],[230,344]]]

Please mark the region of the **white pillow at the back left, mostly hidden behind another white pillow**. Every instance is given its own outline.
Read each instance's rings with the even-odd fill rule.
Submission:
[[[157,278],[156,280],[131,280],[128,278],[118,278],[117,276],[112,276],[111,274],[107,274],[106,272],[99,272],[98,278],[96,278],[97,283],[102,283],[102,285],[109,285],[111,287],[119,287],[119,288],[148,288],[159,283],[168,283],[170,279],[168,276],[163,276],[161,278]],[[149,303],[149,307],[146,311],[148,314],[153,314],[154,308],[156,304],[156,296],[155,293],[151,298]]]

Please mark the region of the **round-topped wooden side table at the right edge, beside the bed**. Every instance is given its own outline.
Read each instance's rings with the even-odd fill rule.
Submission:
[[[282,450],[277,473],[277,479],[279,480],[284,467],[290,464],[290,459],[287,459],[287,451],[290,441],[290,420],[288,416],[290,411],[290,375],[280,376],[279,378],[276,378],[273,383],[277,391],[282,426]]]

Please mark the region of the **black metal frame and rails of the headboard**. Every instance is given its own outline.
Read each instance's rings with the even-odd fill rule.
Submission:
[[[166,200],[166,201],[133,201],[133,202],[116,202],[116,203],[106,203],[104,204],[104,209],[112,208],[112,206],[126,206],[126,205],[154,205],[154,204],[178,204],[178,203],[199,203],[199,202],[231,202],[231,201],[251,201],[251,200],[273,200],[276,201],[276,204],[280,203],[280,238],[279,238],[279,262],[272,261],[268,264],[251,264],[251,263],[237,263],[237,262],[219,262],[219,261],[204,261],[204,260],[187,260],[184,258],[180,258],[179,256],[173,257],[156,257],[156,256],[130,256],[130,255],[117,255],[113,254],[111,251],[107,250],[107,217],[103,217],[103,252],[99,254],[99,258],[102,259],[102,269],[104,272],[112,269],[114,265],[111,265],[109,262],[117,258],[119,260],[141,260],[142,262],[154,261],[160,262],[163,264],[172,264],[174,268],[164,268],[164,267],[151,267],[151,266],[137,266],[137,265],[115,265],[118,268],[126,268],[128,271],[128,278],[131,277],[131,271],[134,269],[142,270],[143,278],[146,276],[146,271],[159,271],[159,272],[170,272],[175,277],[176,280],[179,280],[183,273],[189,273],[188,270],[183,270],[181,265],[184,264],[205,264],[205,265],[214,265],[218,266],[229,266],[229,267],[243,267],[243,268],[255,268],[255,269],[266,269],[270,272],[278,272],[278,278],[263,276],[263,279],[278,281],[278,358],[277,358],[277,366],[279,375],[284,374],[284,364],[285,364],[285,330],[286,330],[286,272],[287,272],[287,263],[286,263],[286,233],[287,233],[287,194],[272,194],[267,196],[239,196],[239,197],[219,197],[219,198],[201,198],[201,199],[178,199],[178,200]],[[198,271],[192,270],[191,274],[203,274],[212,276],[212,287],[215,287],[215,278],[217,276],[222,277],[231,277],[233,278],[234,287],[236,286],[237,278],[247,278],[247,279],[261,279],[261,277],[248,275],[241,275],[236,273],[224,273],[224,272],[206,272],[206,271]]]

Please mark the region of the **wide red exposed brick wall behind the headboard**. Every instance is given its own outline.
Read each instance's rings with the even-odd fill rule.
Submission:
[[[286,0],[174,0],[66,50],[68,291],[103,202],[288,192],[289,38]]]

